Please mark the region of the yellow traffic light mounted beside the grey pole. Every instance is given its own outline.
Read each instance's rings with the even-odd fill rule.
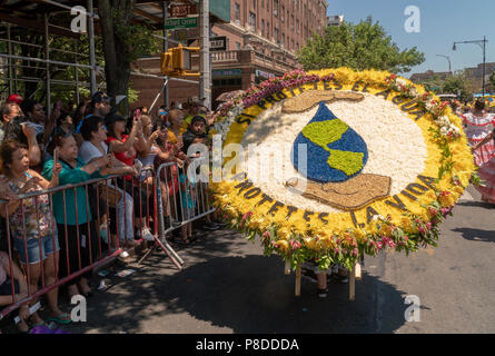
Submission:
[[[199,77],[199,72],[191,70],[191,53],[199,52],[199,47],[170,48],[161,53],[161,73],[169,77]]]

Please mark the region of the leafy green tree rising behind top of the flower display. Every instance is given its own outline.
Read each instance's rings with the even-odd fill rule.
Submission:
[[[423,63],[425,56],[416,47],[400,51],[385,29],[368,17],[358,24],[344,22],[338,27],[327,27],[324,36],[314,33],[299,51],[298,60],[306,70],[346,66],[355,70],[397,73],[410,71],[412,67]]]

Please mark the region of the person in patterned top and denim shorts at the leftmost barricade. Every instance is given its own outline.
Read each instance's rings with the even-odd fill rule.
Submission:
[[[48,181],[34,170],[29,169],[28,149],[22,144],[3,142],[0,147],[0,157],[2,172],[9,178],[11,190],[18,195],[50,189],[59,185],[61,165],[58,162],[52,165],[50,181]],[[53,285],[57,280],[56,270],[60,248],[48,195],[2,204],[0,215],[7,218],[6,212],[13,246],[28,273],[30,293],[34,294],[38,290],[41,273],[44,273],[44,285]],[[69,324],[70,316],[58,307],[58,288],[48,291],[47,298],[51,319],[60,324]],[[31,318],[34,324],[43,324],[37,314],[33,314]]]

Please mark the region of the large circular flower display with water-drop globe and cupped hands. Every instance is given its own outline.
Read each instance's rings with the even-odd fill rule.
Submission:
[[[451,108],[388,72],[290,72],[216,116],[214,134],[224,139],[216,206],[293,267],[309,259],[352,267],[384,248],[435,246],[474,171]]]

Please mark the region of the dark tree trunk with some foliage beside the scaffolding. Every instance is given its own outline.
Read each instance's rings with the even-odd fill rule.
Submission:
[[[131,23],[136,0],[98,0],[102,47],[105,53],[105,77],[110,97],[129,93],[131,63],[147,53],[158,51],[152,31]],[[119,109],[127,113],[128,98]]]

